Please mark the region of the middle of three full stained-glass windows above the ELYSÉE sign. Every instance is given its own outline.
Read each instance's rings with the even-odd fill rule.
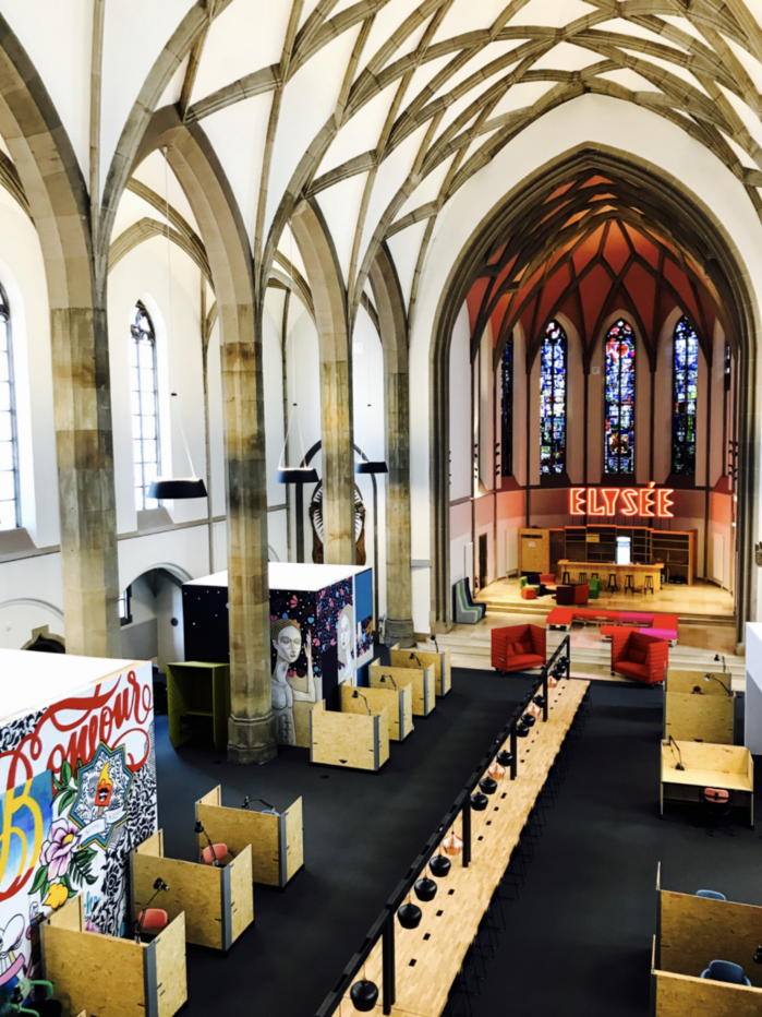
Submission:
[[[619,319],[606,335],[603,471],[634,474],[634,333]]]

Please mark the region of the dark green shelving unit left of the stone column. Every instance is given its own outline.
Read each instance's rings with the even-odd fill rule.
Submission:
[[[167,665],[169,740],[179,749],[206,725],[218,752],[228,745],[230,666],[186,660]]]

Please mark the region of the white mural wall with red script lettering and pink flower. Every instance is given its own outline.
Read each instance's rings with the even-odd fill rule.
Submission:
[[[157,825],[150,665],[0,727],[0,781],[9,992],[39,967],[40,923],[76,894],[88,931],[124,931],[126,861]]]

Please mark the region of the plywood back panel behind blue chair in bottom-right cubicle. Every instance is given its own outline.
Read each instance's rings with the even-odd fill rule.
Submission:
[[[753,962],[762,943],[762,908],[662,890],[660,912],[662,971],[699,978],[712,960],[730,960],[762,989],[762,967]],[[757,1005],[762,1013],[762,994]]]

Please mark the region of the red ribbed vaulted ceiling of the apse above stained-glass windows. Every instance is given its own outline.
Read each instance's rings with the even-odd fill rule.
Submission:
[[[727,335],[733,325],[725,280],[707,254],[650,191],[582,172],[539,193],[513,236],[485,252],[468,297],[474,346],[489,322],[497,357],[520,323],[531,364],[547,323],[565,314],[588,367],[606,319],[627,311],[655,363],[662,325],[677,307],[711,358],[715,321]]]

